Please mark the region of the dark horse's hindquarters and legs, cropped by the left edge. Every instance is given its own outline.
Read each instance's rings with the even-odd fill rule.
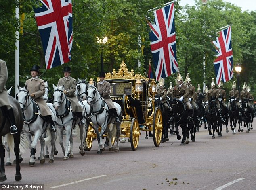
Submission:
[[[15,98],[8,96],[10,100],[10,104],[13,107],[13,113],[15,115],[15,121],[16,121],[16,127],[18,129],[18,133],[13,135],[13,140],[14,140],[14,152],[16,156],[16,160],[19,160],[19,143],[21,139],[21,129],[23,126],[22,123],[22,113],[21,113],[21,108],[19,106],[19,102],[15,100]],[[0,109],[1,110],[1,109]],[[2,136],[6,135],[10,131],[10,123],[6,119],[7,115],[6,112],[0,111],[0,138],[2,139]],[[5,157],[5,149],[2,144],[2,141],[0,141],[0,182],[5,181],[6,175],[5,175],[5,168],[4,168],[4,157]],[[19,161],[16,162],[16,173],[15,173],[15,180],[20,181],[21,180],[21,173],[20,173],[20,165]]]

